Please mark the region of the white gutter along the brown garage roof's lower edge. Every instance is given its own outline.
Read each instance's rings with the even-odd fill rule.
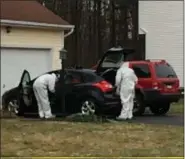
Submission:
[[[16,20],[1,19],[1,26],[7,26],[7,25],[74,30],[74,25],[60,25],[60,24],[49,24],[49,23],[38,23],[38,22],[29,22],[29,21],[16,21]]]

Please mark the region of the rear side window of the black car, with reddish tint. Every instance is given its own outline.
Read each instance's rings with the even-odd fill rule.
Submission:
[[[78,84],[82,82],[83,79],[79,73],[70,72],[65,76],[65,84]]]

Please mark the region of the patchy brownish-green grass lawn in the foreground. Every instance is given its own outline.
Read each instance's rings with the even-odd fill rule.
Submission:
[[[2,156],[183,156],[183,127],[2,119]]]

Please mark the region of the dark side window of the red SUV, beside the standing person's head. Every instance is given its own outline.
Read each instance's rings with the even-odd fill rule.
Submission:
[[[148,64],[133,64],[132,69],[134,70],[138,78],[150,78],[151,72]]]

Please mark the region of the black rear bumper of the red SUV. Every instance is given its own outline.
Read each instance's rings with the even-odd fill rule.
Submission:
[[[177,93],[161,93],[158,90],[146,89],[146,90],[143,90],[143,93],[144,93],[144,100],[146,103],[178,102],[182,96],[180,91]]]

